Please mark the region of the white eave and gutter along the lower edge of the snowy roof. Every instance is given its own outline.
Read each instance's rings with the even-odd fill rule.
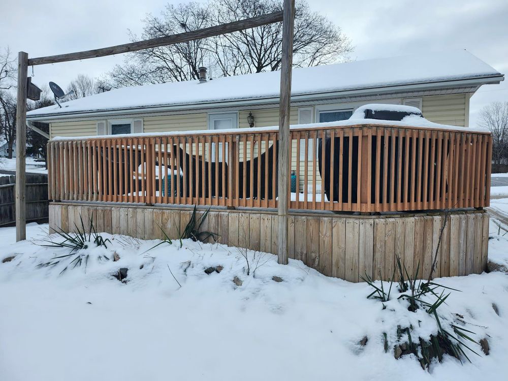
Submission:
[[[369,86],[369,87],[358,87],[358,88],[350,88],[344,90],[332,90],[332,91],[320,91],[320,92],[308,92],[305,94],[295,94],[291,96],[291,101],[308,101],[308,100],[320,100],[326,98],[340,98],[361,94],[380,94],[386,92],[394,92],[394,91],[404,91],[407,89],[411,90],[424,90],[424,89],[433,89],[433,88],[447,88],[447,87],[457,87],[457,86],[478,86],[485,84],[498,84],[504,80],[504,75],[500,73],[488,75],[488,76],[478,76],[471,77],[466,79],[455,79],[455,80],[436,80],[436,81],[424,81],[424,82],[413,82],[413,83],[404,83],[400,85],[380,85],[380,86]],[[92,111],[75,111],[75,112],[59,112],[59,113],[49,113],[49,114],[41,114],[41,115],[27,115],[27,119],[33,121],[44,121],[44,122],[53,122],[61,119],[69,119],[72,117],[107,117],[112,115],[130,115],[130,114],[145,114],[151,113],[154,111],[164,112],[164,111],[180,111],[187,110],[199,106],[200,108],[220,108],[220,107],[234,107],[234,106],[243,106],[243,105],[257,105],[257,104],[269,104],[269,103],[277,103],[279,97],[260,97],[260,98],[246,98],[246,99],[235,99],[229,101],[204,101],[204,102],[196,102],[196,103],[186,103],[186,104],[173,104],[173,105],[157,105],[157,106],[141,106],[141,107],[129,107],[129,108],[116,108],[110,110],[92,110]]]

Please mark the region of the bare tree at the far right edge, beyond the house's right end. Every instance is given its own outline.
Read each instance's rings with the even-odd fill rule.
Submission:
[[[492,102],[480,111],[480,124],[492,133],[494,172],[500,170],[508,151],[508,102]]]

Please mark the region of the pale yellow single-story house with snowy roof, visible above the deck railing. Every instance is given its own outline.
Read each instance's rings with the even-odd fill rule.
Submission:
[[[295,69],[290,122],[343,120],[364,104],[387,103],[467,127],[472,94],[503,79],[465,50]],[[272,126],[279,82],[279,72],[266,72],[125,87],[30,111],[27,120],[50,123],[51,138]]]

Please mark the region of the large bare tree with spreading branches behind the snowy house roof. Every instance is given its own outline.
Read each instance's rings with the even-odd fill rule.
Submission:
[[[157,38],[220,23],[279,11],[280,0],[209,0],[168,5],[160,17],[149,15],[141,38]],[[114,87],[197,79],[198,68],[217,76],[280,69],[282,25],[275,23],[209,39],[133,52],[109,73]],[[131,34],[131,40],[138,40]],[[344,61],[353,50],[340,27],[310,10],[305,0],[296,6],[293,63],[296,67]]]

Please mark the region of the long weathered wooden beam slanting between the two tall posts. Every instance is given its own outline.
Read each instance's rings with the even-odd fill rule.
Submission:
[[[173,45],[181,42],[205,39],[208,37],[224,35],[242,29],[255,28],[257,26],[272,24],[282,21],[282,11],[268,13],[262,16],[247,18],[244,20],[229,22],[208,28],[188,31],[178,35],[158,37],[145,41],[131,42],[129,44],[110,46],[108,48],[85,50],[82,52],[49,55],[46,57],[37,57],[28,59],[28,66],[45,65],[46,63],[57,63],[75,61],[78,59],[104,57],[107,55],[135,52],[143,49],[156,48],[159,46]]]

